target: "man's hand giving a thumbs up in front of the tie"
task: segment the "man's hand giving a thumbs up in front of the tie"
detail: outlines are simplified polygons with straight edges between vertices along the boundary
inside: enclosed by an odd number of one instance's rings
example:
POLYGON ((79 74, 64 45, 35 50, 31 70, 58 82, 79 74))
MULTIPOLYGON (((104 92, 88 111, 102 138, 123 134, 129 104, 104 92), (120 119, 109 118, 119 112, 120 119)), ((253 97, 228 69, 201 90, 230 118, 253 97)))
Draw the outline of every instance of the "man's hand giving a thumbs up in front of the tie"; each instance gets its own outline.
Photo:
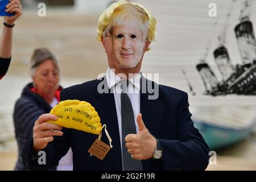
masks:
POLYGON ((134 159, 145 160, 152 158, 156 149, 156 139, 147 130, 142 120, 142 114, 137 116, 139 132, 137 134, 129 134, 125 137, 126 148, 134 159))

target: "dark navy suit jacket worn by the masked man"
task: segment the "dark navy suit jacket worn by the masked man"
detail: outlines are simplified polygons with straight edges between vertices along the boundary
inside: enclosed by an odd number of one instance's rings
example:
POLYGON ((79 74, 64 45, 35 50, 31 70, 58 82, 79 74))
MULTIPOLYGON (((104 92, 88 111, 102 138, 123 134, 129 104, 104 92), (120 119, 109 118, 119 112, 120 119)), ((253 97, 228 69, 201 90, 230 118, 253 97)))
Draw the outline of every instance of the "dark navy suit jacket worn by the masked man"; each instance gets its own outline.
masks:
MULTIPOLYGON (((145 79, 142 77, 142 79, 145 79)), ((103 78, 106 83, 106 79, 103 78)), ((88 149, 98 135, 74 129, 63 129, 64 135, 48 143, 46 165, 39 165, 32 152, 32 139, 23 150, 23 162, 30 169, 57 166, 69 147, 73 151, 74 170, 122 170, 121 144, 113 93, 98 93, 101 80, 92 80, 61 91, 61 100, 86 101, 95 107, 102 125, 108 126, 113 148, 104 160, 90 156, 88 149)), ((148 81, 147 84, 155 84, 148 81)), ((204 170, 208 166, 209 148, 193 126, 188 110, 187 93, 164 85, 159 86, 159 97, 148 100, 149 93, 141 93, 141 113, 144 125, 160 140, 163 159, 142 160, 144 170, 204 170)), ((106 86, 106 84, 105 84, 106 86)), ((103 86, 104 87, 104 86, 103 86)), ((107 88, 110 92, 110 90, 107 88)), ((141 89, 142 90, 142 89, 141 89)), ((102 141, 109 143, 105 134, 102 141)))

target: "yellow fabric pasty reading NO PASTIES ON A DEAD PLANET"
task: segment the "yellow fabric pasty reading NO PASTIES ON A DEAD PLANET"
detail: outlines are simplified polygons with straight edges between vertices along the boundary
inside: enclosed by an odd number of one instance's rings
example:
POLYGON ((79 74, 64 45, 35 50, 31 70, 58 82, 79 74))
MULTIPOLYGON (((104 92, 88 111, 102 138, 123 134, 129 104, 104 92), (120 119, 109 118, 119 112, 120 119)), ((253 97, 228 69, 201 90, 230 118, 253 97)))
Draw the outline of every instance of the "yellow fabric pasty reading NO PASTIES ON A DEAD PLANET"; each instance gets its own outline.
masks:
POLYGON ((55 125, 99 134, 102 130, 101 119, 90 103, 79 100, 61 101, 50 112, 58 117, 57 121, 47 121, 55 125))

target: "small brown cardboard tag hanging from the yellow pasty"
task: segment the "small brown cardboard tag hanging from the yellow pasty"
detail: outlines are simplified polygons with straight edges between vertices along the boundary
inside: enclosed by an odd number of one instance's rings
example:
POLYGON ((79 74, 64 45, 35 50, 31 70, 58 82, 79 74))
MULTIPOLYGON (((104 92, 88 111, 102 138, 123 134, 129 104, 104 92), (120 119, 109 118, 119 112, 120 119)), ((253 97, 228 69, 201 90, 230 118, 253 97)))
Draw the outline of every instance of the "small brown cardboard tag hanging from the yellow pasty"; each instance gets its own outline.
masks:
POLYGON ((92 144, 92 147, 89 148, 88 152, 96 156, 96 158, 103 160, 108 154, 109 150, 110 146, 97 138, 92 144))

